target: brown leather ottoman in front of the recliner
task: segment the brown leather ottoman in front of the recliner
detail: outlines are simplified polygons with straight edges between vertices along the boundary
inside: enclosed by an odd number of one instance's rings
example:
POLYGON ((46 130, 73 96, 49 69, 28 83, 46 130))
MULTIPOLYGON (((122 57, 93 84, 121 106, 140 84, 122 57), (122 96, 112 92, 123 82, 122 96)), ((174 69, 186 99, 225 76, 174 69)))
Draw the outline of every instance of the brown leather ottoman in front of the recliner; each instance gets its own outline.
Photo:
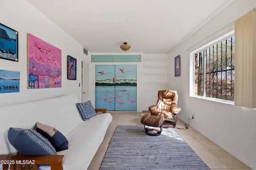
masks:
POLYGON ((164 117, 163 116, 156 116, 156 115, 150 115, 150 114, 145 114, 140 122, 144 124, 144 129, 146 131, 146 134, 150 136, 158 136, 162 133, 162 124, 164 123, 164 117), (150 127, 160 127, 159 129, 155 128, 148 128, 146 126, 150 127))

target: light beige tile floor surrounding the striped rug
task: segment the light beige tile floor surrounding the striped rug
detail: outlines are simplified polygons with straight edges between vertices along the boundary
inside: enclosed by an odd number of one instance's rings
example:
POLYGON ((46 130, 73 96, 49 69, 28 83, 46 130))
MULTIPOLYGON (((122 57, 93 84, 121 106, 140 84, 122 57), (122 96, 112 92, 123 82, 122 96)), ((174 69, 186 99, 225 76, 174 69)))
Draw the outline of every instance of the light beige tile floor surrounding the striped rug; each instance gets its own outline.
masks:
MULTIPOLYGON (((88 170, 99 170, 110 139, 117 125, 142 125, 140 119, 148 112, 110 112, 113 119, 108 126, 106 135, 96 152, 88 170)), ((184 122, 177 120, 176 127, 184 128, 184 122)), ((218 147, 192 127, 188 129, 174 128, 188 145, 200 156, 211 170, 251 170, 248 166, 237 160, 234 156, 218 147)))

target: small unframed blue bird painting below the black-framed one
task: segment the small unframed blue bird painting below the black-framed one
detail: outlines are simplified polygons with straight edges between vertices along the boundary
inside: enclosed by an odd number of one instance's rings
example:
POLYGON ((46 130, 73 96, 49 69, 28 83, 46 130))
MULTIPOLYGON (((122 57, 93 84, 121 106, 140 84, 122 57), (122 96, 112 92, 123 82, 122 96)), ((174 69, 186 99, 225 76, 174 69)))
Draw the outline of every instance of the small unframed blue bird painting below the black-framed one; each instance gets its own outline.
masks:
POLYGON ((20 72, 0 70, 0 93, 20 92, 20 72))

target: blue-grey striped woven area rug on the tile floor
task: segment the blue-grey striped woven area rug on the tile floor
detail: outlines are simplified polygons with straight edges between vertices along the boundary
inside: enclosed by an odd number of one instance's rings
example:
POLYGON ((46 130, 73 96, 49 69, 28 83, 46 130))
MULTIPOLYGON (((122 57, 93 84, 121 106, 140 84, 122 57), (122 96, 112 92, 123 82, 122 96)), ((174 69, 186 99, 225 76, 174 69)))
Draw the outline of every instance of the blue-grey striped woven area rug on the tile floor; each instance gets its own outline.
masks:
POLYGON ((210 169, 173 128, 149 136, 144 125, 118 125, 100 170, 210 169))

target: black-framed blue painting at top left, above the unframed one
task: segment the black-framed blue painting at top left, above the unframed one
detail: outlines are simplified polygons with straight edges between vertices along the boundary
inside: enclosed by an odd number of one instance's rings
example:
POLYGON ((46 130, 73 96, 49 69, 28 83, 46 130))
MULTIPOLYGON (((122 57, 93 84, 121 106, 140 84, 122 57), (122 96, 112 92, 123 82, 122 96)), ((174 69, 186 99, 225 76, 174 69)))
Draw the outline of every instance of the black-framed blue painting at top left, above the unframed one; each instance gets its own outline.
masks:
POLYGON ((18 61, 18 31, 0 23, 0 58, 18 61))

